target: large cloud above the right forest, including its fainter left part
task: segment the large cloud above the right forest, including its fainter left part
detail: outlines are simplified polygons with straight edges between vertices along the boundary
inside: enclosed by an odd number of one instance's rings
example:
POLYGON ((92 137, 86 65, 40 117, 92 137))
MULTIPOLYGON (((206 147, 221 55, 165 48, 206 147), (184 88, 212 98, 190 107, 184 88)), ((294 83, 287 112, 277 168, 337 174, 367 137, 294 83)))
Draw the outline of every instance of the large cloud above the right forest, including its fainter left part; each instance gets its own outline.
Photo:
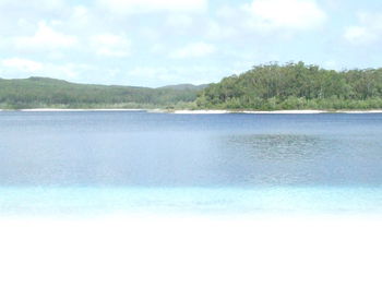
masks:
POLYGON ((297 33, 318 29, 327 20, 315 0, 252 0, 241 5, 220 5, 215 14, 205 24, 206 37, 246 45, 270 36, 273 41, 288 39, 297 33))

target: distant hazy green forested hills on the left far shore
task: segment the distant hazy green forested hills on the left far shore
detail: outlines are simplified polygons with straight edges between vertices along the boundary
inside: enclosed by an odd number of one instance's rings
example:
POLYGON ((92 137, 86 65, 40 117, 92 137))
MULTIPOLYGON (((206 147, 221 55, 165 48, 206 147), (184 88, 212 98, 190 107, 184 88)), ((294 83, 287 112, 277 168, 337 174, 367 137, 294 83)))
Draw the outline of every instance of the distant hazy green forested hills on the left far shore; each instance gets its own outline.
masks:
POLYGON ((205 86, 159 88, 74 84, 48 77, 0 79, 0 109, 193 108, 205 86))

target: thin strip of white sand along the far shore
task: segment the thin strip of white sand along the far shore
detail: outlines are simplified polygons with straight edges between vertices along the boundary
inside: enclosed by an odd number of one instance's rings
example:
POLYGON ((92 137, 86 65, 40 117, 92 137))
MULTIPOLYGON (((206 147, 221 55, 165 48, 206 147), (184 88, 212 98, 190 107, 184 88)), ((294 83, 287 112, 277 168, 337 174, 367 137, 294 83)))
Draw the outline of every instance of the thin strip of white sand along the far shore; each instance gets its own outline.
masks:
POLYGON ((56 112, 56 111, 143 111, 153 113, 176 113, 176 115, 224 115, 224 113, 248 113, 248 115, 312 115, 312 113, 382 113, 382 109, 368 109, 368 110, 314 110, 314 109, 301 109, 301 110, 218 110, 218 109, 200 109, 200 110, 167 110, 167 109, 116 109, 116 108, 95 108, 95 109, 62 109, 62 108, 35 108, 35 109, 0 109, 1 111, 22 111, 22 112, 56 112))

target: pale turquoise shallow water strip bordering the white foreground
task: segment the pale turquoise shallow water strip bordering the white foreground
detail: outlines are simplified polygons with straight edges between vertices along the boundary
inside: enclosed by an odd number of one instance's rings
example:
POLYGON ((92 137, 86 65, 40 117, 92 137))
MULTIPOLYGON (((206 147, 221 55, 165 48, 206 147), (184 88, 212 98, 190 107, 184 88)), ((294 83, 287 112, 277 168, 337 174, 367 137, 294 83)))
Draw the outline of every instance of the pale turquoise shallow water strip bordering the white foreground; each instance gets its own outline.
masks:
POLYGON ((380 213, 378 188, 7 188, 2 215, 380 213))

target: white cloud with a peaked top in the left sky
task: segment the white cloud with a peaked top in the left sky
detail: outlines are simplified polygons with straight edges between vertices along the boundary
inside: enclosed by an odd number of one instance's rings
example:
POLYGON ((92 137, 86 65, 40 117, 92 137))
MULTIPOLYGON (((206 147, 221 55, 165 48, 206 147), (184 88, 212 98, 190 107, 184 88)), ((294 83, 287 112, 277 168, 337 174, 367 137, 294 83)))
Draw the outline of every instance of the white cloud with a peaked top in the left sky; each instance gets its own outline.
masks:
POLYGON ((14 38, 14 44, 17 49, 33 49, 39 51, 72 48, 76 43, 77 39, 75 36, 57 32, 44 21, 38 23, 37 31, 33 36, 14 38))

